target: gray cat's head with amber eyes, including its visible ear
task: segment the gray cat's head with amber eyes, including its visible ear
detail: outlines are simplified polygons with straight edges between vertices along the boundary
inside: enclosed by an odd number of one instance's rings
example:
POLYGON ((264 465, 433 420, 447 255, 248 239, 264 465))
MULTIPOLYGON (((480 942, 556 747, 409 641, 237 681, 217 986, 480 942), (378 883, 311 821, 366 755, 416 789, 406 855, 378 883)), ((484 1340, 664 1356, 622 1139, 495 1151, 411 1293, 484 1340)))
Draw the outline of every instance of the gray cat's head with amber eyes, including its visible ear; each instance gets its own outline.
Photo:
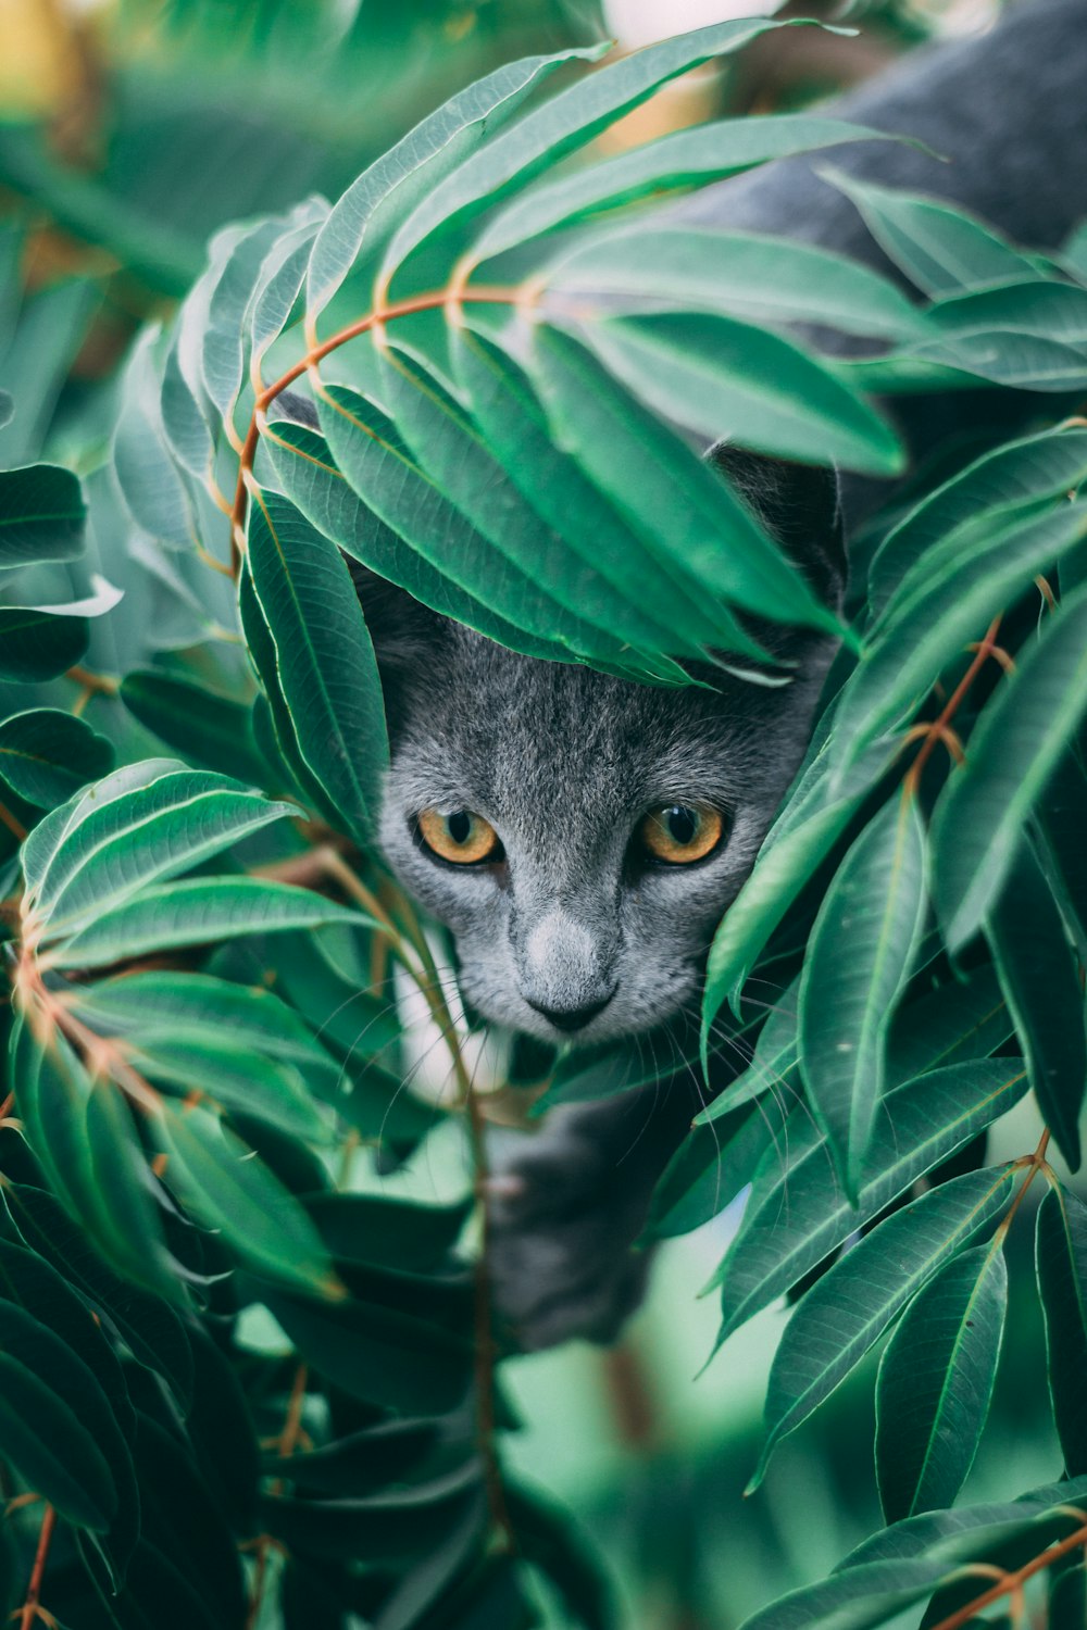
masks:
MULTIPOLYGON (((717 461, 828 603, 833 476, 717 461)), ((385 856, 455 939, 486 1019, 548 1042, 650 1030, 698 1004, 714 929, 803 755, 833 641, 766 624, 795 678, 707 667, 665 689, 539 662, 357 570, 389 716, 385 856)))

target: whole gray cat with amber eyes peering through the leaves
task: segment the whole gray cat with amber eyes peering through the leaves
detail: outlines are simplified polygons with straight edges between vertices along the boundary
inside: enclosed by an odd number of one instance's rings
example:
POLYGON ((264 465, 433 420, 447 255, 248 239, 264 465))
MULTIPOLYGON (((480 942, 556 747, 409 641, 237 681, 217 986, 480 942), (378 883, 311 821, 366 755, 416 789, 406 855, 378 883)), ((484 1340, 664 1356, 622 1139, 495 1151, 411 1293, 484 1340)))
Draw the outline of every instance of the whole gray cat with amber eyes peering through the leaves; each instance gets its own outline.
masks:
MULTIPOLYGON (((1035 0, 991 34, 911 55, 834 112, 922 139, 838 168, 953 199, 1030 246, 1087 215, 1087 0, 1035 0)), ((686 220, 807 238, 882 266, 803 160, 711 187, 686 220)), ((958 398, 957 406, 962 403, 958 398)), ((962 411, 962 409, 960 409, 962 411)), ((932 406, 904 425, 916 445, 932 406)), ((862 489, 719 455, 828 603, 862 489), (847 525, 846 525, 847 533, 847 525)), ((468 1002, 544 1042, 596 1043, 698 1009, 714 927, 803 755, 830 641, 779 631, 799 678, 657 689, 515 655, 362 580, 386 686, 389 866, 456 941, 468 1002)), ((559 1112, 492 1180, 492 1276, 526 1348, 611 1340, 640 1296, 631 1250, 696 1107, 691 1074, 559 1112)))

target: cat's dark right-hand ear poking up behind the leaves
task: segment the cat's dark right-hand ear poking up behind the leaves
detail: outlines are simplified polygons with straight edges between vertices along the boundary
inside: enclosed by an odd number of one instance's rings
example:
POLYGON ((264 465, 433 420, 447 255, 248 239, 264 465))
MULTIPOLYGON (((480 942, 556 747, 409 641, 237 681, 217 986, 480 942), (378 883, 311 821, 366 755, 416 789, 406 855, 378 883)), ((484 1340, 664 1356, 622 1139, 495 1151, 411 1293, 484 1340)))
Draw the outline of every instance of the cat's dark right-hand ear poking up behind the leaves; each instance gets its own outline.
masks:
POLYGON ((800 567, 825 605, 839 610, 847 564, 834 471, 768 458, 728 442, 719 442, 707 456, 800 567))

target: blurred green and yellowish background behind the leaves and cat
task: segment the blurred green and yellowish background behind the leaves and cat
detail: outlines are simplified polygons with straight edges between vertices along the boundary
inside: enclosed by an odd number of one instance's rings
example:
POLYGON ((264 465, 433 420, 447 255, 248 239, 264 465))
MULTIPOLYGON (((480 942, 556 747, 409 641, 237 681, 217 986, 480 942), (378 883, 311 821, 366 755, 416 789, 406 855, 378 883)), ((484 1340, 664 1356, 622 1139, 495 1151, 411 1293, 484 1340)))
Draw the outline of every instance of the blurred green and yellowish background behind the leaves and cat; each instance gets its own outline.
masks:
MULTIPOLYGON (((337 196, 440 101, 495 64, 605 36, 621 46, 727 16, 750 0, 0 0, 0 386, 20 403, 0 465, 42 453, 93 476, 135 329, 168 318, 238 217, 337 196)), ((680 82, 610 142, 722 112, 833 93, 932 36, 988 26, 994 0, 812 0, 766 10, 856 24, 859 37, 769 36, 722 72, 680 82)), ((1033 1148, 1020 1108, 999 1152, 1033 1148)), ((433 1195, 460 1180, 440 1139, 385 1182, 433 1195)), ((996 1152, 996 1151, 994 1151, 996 1152)), ((608 1555, 631 1630, 728 1630, 826 1573, 878 1526, 872 1372, 851 1377, 779 1452, 756 1459, 772 1309, 699 1374, 715 1333, 698 1299, 735 1214, 658 1252, 654 1289, 613 1353, 572 1346, 507 1366, 523 1430, 508 1457, 580 1516, 608 1555)), ((965 1498, 1059 1475, 1030 1227, 1012 1237, 1012 1317, 994 1418, 965 1498)), ((556 1625, 562 1623, 557 1609, 556 1625)))

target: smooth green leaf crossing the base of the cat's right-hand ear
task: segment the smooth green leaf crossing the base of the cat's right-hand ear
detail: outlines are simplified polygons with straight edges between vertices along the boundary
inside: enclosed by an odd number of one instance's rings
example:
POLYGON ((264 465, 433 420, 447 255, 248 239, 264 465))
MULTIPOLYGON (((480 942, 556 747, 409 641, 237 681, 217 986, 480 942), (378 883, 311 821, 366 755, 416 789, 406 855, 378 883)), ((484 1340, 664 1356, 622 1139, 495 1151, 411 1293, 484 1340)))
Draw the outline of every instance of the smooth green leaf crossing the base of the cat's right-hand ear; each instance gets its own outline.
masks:
POLYGON ((745 611, 841 632, 722 476, 616 385, 590 350, 536 324, 528 360, 557 445, 647 548, 745 611))

